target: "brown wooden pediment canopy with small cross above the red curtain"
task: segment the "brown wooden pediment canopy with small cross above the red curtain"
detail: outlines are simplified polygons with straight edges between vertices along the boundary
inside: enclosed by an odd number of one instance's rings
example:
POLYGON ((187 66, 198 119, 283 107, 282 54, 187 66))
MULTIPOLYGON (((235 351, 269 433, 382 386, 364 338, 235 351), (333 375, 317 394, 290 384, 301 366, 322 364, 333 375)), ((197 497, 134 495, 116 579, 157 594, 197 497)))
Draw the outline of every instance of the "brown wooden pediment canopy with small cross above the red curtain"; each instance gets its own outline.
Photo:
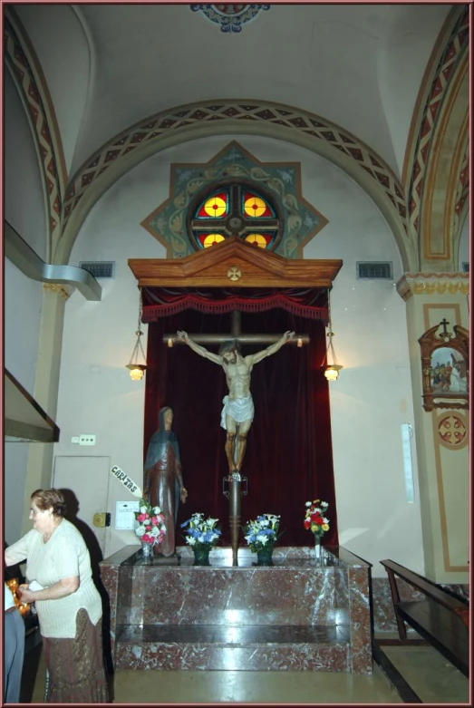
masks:
POLYGON ((130 258, 140 287, 330 288, 342 260, 294 259, 227 238, 184 258, 130 258))

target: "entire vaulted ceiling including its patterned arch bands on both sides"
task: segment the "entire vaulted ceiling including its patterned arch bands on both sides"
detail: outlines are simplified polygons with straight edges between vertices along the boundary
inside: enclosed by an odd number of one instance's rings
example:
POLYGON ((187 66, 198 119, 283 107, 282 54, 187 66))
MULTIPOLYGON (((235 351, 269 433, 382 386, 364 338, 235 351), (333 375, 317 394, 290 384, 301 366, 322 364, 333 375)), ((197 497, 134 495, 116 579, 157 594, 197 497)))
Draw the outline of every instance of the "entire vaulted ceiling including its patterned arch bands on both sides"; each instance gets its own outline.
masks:
POLYGON ((252 134, 313 150, 355 179, 405 268, 458 267, 468 5, 274 3, 240 32, 223 32, 202 8, 256 5, 5 7, 7 66, 41 161, 54 263, 68 262, 94 203, 141 160, 199 137, 252 134))

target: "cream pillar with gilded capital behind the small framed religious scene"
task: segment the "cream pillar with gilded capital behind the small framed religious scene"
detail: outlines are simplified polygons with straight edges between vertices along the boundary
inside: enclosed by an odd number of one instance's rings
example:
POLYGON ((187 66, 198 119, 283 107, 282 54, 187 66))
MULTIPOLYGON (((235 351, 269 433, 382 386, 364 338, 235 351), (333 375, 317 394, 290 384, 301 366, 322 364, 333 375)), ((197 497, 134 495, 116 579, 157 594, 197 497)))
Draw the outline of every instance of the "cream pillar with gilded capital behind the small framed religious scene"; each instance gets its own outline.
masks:
POLYGON ((407 306, 425 574, 437 583, 468 583, 469 411, 424 410, 418 340, 443 318, 450 332, 453 325, 469 328, 469 274, 407 273, 397 291, 407 306))

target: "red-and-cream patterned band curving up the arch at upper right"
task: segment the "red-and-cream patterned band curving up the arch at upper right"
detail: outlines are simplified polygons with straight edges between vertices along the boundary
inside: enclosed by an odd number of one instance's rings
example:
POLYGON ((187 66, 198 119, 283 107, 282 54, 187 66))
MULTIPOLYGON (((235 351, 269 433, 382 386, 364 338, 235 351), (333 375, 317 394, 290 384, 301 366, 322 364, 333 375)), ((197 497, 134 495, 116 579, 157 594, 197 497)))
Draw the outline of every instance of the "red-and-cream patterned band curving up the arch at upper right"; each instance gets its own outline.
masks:
POLYGON ((446 99, 451 82, 456 76, 459 64, 468 50, 469 5, 466 4, 459 9, 459 17, 452 28, 448 42, 444 45, 421 113, 411 180, 407 189, 410 228, 416 235, 420 233, 421 195, 430 160, 430 150, 440 118, 440 108, 446 99))

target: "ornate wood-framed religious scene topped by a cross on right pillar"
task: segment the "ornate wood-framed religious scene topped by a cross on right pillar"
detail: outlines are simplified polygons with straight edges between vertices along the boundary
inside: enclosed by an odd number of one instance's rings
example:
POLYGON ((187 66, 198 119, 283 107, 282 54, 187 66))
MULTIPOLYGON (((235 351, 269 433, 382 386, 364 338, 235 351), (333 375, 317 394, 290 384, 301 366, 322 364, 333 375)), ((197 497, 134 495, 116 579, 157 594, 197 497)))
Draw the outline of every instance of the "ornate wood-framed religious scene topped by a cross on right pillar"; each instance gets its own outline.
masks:
POLYGON ((423 408, 469 408, 469 332, 450 323, 430 327, 421 345, 423 408))

